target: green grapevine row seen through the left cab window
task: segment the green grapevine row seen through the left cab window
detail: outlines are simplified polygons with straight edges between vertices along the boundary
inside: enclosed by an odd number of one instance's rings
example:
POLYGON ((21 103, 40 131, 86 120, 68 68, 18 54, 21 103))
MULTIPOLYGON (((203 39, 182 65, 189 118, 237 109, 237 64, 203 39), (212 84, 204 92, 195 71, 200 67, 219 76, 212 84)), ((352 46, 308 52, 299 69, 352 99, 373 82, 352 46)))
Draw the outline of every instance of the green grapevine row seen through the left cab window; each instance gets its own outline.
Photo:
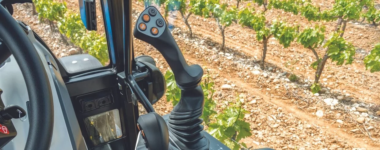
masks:
POLYGON ((40 19, 47 19, 53 30, 54 21, 57 21, 61 38, 65 43, 65 35, 71 43, 80 47, 88 54, 97 58, 102 65, 109 60, 108 46, 106 38, 95 31, 87 31, 84 27, 81 16, 78 13, 68 12, 66 3, 52 0, 36 0, 36 11, 40 19))

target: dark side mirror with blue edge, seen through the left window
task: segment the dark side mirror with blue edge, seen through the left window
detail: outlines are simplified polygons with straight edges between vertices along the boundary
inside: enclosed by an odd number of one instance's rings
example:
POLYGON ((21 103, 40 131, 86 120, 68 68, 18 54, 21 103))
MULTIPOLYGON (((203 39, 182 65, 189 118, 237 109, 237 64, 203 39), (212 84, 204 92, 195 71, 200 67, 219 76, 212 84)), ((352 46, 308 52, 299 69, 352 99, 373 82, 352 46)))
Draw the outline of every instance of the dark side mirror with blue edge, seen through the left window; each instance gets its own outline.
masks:
POLYGON ((87 30, 97 30, 95 0, 79 0, 81 19, 87 30))

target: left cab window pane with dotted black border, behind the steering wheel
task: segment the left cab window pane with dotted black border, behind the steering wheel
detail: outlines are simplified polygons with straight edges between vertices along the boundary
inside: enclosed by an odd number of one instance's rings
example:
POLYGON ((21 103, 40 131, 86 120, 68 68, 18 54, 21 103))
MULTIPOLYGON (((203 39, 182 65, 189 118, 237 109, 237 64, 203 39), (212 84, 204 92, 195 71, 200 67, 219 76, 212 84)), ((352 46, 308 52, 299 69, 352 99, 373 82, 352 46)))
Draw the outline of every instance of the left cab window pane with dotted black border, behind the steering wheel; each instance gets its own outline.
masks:
POLYGON ((110 63, 100 1, 96 2, 97 31, 88 31, 78 1, 33 0, 15 4, 13 16, 46 43, 68 74, 103 68, 110 63))

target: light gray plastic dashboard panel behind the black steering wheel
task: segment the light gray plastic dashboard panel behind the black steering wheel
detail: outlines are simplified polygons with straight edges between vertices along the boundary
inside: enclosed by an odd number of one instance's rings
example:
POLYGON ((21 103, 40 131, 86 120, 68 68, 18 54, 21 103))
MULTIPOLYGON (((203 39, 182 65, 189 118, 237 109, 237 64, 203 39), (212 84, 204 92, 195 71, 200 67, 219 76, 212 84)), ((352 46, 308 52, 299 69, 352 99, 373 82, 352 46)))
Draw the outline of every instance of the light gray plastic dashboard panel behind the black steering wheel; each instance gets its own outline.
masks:
MULTIPOLYGON (((29 39, 37 49, 38 54, 40 54, 41 60, 46 62, 44 63, 44 67, 53 93, 54 126, 50 149, 86 150, 87 147, 84 143, 78 121, 76 120, 67 88, 65 87, 62 77, 60 77, 59 71, 52 68, 51 65, 48 65, 47 61, 51 61, 55 66, 57 66, 57 63, 47 49, 35 40, 32 30, 29 27, 28 29, 29 39)), ((0 68, 0 87, 3 89, 2 99, 5 105, 16 104, 27 110, 26 102, 29 101, 29 99, 25 81, 13 55, 10 57, 10 62, 5 63, 5 65, 0 68)), ((24 122, 21 122, 19 119, 12 120, 17 130, 17 136, 3 147, 4 150, 24 149, 29 129, 28 119, 24 122)))

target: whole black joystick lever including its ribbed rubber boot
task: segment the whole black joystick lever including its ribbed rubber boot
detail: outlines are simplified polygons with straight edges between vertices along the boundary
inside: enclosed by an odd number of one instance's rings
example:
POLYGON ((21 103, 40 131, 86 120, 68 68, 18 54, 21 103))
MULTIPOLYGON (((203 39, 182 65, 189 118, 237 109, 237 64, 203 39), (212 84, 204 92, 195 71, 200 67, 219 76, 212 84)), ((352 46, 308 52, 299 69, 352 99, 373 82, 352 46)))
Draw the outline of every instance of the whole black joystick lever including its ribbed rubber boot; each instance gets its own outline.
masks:
POLYGON ((154 46, 173 71, 181 99, 170 112, 167 122, 169 144, 179 150, 208 150, 209 139, 203 132, 204 94, 200 86, 203 69, 188 65, 166 22, 154 6, 146 8, 133 29, 135 38, 154 46))

